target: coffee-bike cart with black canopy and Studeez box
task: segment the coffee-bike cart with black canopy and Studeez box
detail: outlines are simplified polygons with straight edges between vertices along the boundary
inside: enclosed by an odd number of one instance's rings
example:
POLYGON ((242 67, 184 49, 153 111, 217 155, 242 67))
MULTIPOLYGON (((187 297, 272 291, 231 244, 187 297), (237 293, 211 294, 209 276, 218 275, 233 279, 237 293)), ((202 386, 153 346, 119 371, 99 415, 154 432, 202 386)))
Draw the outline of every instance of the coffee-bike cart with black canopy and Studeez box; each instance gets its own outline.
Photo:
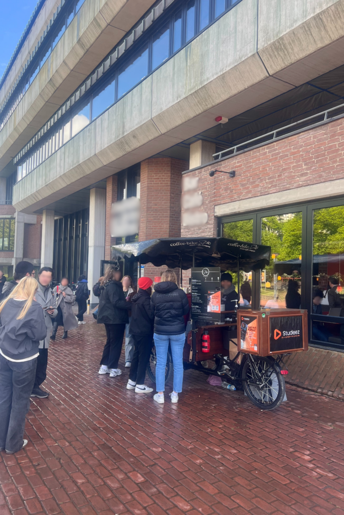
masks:
MULTIPOLYGON (((221 376, 243 388, 260 409, 273 409, 285 398, 283 356, 308 349, 307 311, 221 306, 220 278, 227 270, 240 274, 264 269, 271 248, 229 238, 159 238, 112 247, 112 259, 152 263, 159 267, 191 269, 191 310, 186 328, 184 369, 197 369, 221 376), (235 351, 233 351, 235 349, 235 351), (232 356, 230 357, 230 355, 232 356), (234 355, 233 355, 234 354, 234 355)), ((153 347, 148 375, 155 382, 156 354, 153 347)), ((168 353, 166 379, 172 371, 168 353)))

